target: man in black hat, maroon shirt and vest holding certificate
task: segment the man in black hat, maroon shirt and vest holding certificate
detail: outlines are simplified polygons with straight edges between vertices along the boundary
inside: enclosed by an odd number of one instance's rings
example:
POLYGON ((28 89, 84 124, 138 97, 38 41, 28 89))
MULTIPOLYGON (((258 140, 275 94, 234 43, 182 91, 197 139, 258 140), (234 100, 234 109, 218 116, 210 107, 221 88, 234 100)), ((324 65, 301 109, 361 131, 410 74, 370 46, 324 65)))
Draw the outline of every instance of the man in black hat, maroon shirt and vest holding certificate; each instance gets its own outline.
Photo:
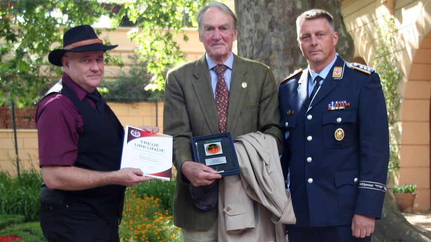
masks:
MULTIPOLYGON (((123 127, 96 90, 104 75, 103 45, 92 27, 67 30, 48 60, 62 80, 36 110, 41 190, 40 222, 48 241, 120 241, 125 186, 151 178, 120 168, 123 127)), ((144 126, 148 132, 158 128, 144 126)))

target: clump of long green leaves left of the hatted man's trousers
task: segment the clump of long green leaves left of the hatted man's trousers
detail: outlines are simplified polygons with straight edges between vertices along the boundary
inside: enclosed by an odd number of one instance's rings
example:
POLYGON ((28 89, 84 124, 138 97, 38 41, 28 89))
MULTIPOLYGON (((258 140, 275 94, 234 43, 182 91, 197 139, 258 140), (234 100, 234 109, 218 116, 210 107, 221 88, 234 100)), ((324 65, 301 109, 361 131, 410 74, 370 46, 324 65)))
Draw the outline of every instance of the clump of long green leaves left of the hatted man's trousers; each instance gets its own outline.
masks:
POLYGON ((1 171, 0 214, 20 214, 26 221, 38 221, 41 184, 42 175, 35 169, 22 171, 19 178, 1 171))

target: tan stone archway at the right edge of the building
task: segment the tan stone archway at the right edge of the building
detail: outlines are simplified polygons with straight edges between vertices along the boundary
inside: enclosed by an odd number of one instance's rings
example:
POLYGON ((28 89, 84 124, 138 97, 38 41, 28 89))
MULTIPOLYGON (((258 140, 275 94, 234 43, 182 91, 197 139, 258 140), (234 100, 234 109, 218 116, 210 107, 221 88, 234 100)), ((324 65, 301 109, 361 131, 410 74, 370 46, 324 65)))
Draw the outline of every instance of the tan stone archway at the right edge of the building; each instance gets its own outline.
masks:
POLYGON ((401 104, 400 184, 416 183, 416 208, 431 200, 431 31, 420 41, 401 104))

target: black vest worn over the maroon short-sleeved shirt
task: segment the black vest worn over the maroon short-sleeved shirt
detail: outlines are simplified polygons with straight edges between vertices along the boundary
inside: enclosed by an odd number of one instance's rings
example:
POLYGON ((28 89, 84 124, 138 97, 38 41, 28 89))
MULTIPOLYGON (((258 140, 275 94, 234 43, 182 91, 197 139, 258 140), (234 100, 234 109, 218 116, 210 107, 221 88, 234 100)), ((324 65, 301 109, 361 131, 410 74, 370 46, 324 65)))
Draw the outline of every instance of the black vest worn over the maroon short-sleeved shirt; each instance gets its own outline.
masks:
MULTIPOLYGON (((83 120, 75 166, 96 171, 120 169, 124 130, 112 110, 105 105, 106 114, 100 114, 85 99, 80 101, 75 92, 62 85, 61 81, 46 95, 51 92, 60 92, 67 96, 77 107, 83 120)), ((106 185, 79 191, 46 188, 43 190, 48 198, 61 194, 66 203, 71 201, 87 203, 109 223, 116 222, 123 211, 125 187, 121 185, 106 185)))

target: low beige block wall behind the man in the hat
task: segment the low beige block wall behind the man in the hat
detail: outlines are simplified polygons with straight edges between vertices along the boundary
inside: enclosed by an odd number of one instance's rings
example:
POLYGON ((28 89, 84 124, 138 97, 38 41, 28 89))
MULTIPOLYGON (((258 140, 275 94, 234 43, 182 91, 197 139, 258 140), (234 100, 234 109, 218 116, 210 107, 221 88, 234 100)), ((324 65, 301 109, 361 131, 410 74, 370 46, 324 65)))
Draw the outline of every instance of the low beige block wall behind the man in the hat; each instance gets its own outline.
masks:
MULTIPOLYGON (((163 103, 108 103, 108 105, 117 115, 123 126, 155 126, 157 122, 160 132, 163 133, 163 103)), ((1 119, 4 119, 3 114, 1 114, 1 119)), ((21 160, 20 167, 22 169, 30 169, 31 167, 39 169, 37 130, 34 128, 17 129, 16 140, 18 156, 21 160)), ((0 128, 0 170, 15 175, 15 164, 14 131, 13 129, 0 128)))

